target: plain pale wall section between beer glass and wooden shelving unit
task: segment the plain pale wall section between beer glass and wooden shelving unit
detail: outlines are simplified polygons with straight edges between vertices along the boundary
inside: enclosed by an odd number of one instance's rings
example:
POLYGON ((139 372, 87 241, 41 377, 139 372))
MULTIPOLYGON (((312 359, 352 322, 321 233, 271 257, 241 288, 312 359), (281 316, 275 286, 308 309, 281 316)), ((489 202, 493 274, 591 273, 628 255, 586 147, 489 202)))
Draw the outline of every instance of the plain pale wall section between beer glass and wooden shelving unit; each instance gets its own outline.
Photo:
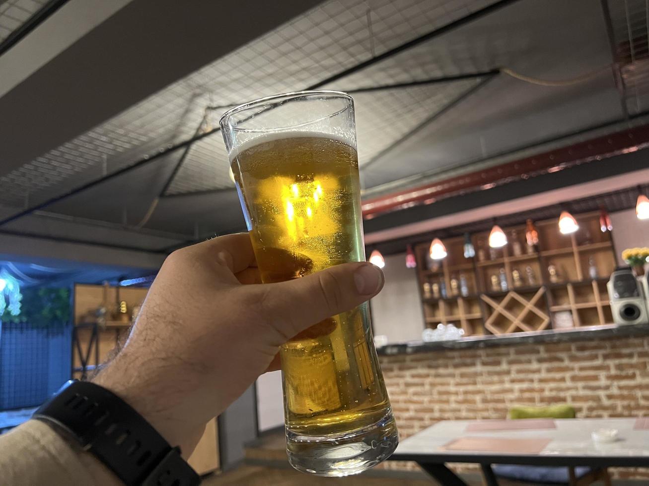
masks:
POLYGON ((406 268, 406 254, 386 257, 386 285, 371 301, 374 336, 384 334, 388 343, 421 340, 424 330, 417 271, 406 268))

